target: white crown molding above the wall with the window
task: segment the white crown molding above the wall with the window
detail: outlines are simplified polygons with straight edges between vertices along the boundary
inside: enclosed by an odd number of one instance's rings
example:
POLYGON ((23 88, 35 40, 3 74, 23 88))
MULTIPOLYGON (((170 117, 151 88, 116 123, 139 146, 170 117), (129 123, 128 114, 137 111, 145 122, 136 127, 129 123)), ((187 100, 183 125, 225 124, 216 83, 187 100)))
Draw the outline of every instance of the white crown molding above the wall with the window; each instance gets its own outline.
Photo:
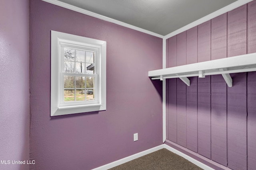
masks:
POLYGON ((142 29, 142 28, 130 25, 128 23, 124 23, 124 22, 121 22, 121 21, 118 21, 118 20, 114 20, 112 18, 108 18, 106 16, 102 16, 100 14, 96 14, 94 12, 90 12, 88 10, 84 10, 82 8, 78 8, 76 6, 73 6, 73 5, 70 5, 70 4, 66 4, 66 3, 60 2, 58 0, 42 0, 42 1, 48 2, 50 4, 54 4, 54 5, 57 5, 57 6, 69 9, 69 10, 73 10, 73 11, 76 11, 76 12, 79 12, 79 13, 82 13, 82 14, 85 14, 85 15, 88 15, 88 16, 92 16, 92 17, 95 17, 95 18, 98 18, 98 19, 101 19, 101 20, 104 20, 104 21, 112 22, 112 23, 115 23, 117 25, 121 25, 121 26, 130 28, 130 29, 134 29, 134 30, 140 31, 142 33, 153 35, 155 37, 159 37, 159 38, 163 38, 164 37, 164 35, 160 35, 160 34, 152 32, 152 31, 148 31, 146 29, 142 29))

